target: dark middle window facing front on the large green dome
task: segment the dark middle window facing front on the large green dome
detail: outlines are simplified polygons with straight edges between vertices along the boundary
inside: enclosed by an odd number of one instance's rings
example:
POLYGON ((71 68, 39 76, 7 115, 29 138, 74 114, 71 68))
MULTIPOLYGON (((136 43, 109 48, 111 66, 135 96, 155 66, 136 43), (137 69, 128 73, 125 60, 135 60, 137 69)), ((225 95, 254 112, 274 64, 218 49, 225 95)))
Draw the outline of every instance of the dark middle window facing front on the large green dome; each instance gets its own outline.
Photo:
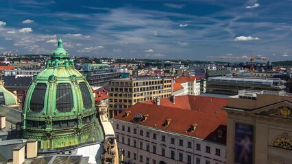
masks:
POLYGON ((69 83, 59 83, 57 85, 56 109, 60 112, 69 112, 73 109, 73 94, 69 83))

